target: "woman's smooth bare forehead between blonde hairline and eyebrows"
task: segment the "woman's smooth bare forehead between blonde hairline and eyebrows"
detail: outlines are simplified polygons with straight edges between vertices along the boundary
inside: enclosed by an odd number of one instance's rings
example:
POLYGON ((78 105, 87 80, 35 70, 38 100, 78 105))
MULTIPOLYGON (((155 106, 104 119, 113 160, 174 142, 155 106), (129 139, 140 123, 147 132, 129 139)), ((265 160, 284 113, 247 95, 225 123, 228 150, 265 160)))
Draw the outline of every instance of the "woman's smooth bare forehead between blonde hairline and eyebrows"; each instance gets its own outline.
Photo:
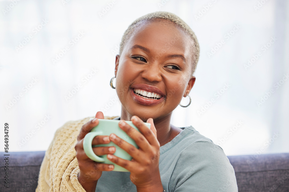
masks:
POLYGON ((141 45, 154 54, 183 54, 190 58, 191 39, 175 23, 164 20, 142 22, 133 32, 125 45, 127 51, 134 45, 141 45))

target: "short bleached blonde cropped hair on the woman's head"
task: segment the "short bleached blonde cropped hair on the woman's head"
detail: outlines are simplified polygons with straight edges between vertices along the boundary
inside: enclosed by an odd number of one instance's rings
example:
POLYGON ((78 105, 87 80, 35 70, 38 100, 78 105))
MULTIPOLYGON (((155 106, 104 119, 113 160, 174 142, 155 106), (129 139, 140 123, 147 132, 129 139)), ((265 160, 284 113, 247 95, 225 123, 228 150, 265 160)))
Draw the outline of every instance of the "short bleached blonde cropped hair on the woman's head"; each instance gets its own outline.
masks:
POLYGON ((168 21, 171 21, 175 24, 177 24, 186 34, 188 34, 190 36, 190 38, 192 39, 192 72, 191 75, 194 73, 194 71, 196 70, 197 67, 197 63, 199 60, 199 56, 200 56, 200 46, 197 40, 196 35, 194 34, 194 32, 192 31, 192 29, 178 16, 176 16, 173 13, 170 12, 164 12, 164 11, 158 11, 158 12, 153 12, 153 13, 149 13, 147 15, 144 15, 138 19, 136 19, 134 22, 132 22, 129 27, 127 28, 127 30, 125 31, 125 33, 123 34, 123 37, 121 39, 121 43, 119 46, 119 55, 121 55, 122 51, 123 51, 123 47, 125 45, 125 43, 127 42, 127 40, 134 35, 134 31, 135 29, 140 26, 141 24, 143 24, 144 22, 147 21, 151 21, 154 19, 165 19, 168 21))

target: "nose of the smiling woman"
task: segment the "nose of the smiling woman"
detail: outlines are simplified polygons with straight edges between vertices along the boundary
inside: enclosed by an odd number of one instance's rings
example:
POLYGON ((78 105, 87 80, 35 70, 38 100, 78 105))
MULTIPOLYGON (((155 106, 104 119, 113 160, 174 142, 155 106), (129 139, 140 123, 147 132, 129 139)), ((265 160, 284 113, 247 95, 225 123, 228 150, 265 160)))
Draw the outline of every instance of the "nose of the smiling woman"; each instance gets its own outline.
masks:
POLYGON ((161 72, 157 64, 146 65, 144 71, 141 74, 141 77, 150 82, 162 81, 161 72))

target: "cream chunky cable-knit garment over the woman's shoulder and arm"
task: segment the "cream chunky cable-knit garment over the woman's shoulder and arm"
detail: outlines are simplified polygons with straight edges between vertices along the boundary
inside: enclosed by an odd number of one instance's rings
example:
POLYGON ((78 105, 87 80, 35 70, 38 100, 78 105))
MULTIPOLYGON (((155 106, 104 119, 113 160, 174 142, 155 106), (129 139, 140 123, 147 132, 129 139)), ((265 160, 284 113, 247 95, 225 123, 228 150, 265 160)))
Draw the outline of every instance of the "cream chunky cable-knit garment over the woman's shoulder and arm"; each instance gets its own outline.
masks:
MULTIPOLYGON (((104 119, 115 117, 105 116, 104 119)), ((77 178, 79 167, 74 147, 81 127, 90 118, 94 117, 69 121, 56 130, 40 167, 36 192, 85 191, 77 178)))

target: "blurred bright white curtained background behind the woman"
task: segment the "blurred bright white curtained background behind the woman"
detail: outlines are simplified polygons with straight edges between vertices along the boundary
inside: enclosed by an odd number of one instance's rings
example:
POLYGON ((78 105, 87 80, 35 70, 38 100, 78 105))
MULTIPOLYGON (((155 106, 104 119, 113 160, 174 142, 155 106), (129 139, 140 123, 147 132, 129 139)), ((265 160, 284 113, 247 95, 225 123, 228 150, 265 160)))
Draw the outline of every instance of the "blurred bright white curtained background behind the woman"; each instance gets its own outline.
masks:
POLYGON ((192 103, 171 123, 192 125, 226 155, 289 152, 288 1, 2 0, 0 8, 0 143, 8 122, 10 151, 44 151, 65 122, 105 107, 105 116, 120 115, 109 81, 121 37, 137 18, 168 11, 201 49, 192 103))

